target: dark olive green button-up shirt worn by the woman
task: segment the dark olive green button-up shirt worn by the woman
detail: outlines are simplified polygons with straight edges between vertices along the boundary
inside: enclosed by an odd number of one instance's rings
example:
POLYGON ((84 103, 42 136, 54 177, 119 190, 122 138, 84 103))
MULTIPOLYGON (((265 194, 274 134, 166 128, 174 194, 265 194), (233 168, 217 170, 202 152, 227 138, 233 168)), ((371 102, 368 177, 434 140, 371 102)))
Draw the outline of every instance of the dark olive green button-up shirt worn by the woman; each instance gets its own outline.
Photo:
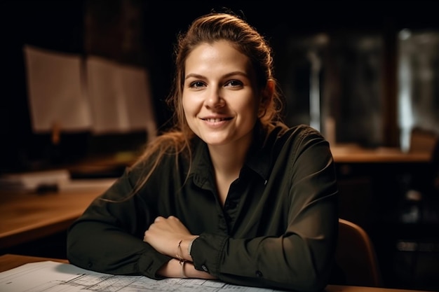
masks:
POLYGON ((267 137, 255 133, 224 207, 201 139, 192 141, 189 176, 184 155, 178 155, 178 166, 175 155, 166 155, 142 189, 127 197, 150 162, 126 169, 101 196, 120 202, 97 198, 69 228, 70 263, 97 272, 162 279, 156 272, 170 257, 142 239, 156 216, 173 215, 199 235, 191 247, 197 270, 230 284, 323 289, 338 227, 329 144, 306 125, 276 127, 267 137))

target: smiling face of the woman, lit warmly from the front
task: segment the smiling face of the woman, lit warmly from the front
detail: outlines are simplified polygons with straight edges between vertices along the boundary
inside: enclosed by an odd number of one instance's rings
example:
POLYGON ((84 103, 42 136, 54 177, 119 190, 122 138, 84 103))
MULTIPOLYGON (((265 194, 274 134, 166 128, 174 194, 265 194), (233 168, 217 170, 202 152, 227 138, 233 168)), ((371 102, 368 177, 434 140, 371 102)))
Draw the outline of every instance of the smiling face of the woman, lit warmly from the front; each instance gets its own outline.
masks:
POLYGON ((227 41, 203 43, 185 69, 182 104, 191 130, 209 146, 248 146, 261 100, 250 59, 227 41))

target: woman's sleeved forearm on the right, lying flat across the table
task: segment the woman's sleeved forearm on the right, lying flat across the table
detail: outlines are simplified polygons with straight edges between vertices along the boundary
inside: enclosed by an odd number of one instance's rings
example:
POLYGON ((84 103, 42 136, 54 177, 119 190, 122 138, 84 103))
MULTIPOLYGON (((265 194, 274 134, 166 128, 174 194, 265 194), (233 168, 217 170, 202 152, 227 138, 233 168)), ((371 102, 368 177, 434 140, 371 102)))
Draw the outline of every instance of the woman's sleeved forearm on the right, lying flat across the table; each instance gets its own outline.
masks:
POLYGON ((318 224, 304 223, 306 230, 292 227, 278 237, 233 239, 202 233, 191 255, 198 270, 231 284, 312 291, 325 286, 329 277, 334 231, 330 226, 320 231, 306 226, 318 224))

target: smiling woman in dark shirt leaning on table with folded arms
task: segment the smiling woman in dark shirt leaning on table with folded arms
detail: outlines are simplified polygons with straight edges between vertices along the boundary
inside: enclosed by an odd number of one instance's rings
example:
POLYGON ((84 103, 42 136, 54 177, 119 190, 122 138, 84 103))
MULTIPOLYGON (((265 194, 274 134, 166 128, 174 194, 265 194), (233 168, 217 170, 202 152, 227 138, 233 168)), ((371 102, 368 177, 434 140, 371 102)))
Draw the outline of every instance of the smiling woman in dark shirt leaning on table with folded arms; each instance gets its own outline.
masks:
POLYGON ((319 291, 337 242, 329 144, 279 118, 271 48, 236 15, 176 47, 175 127, 69 228, 70 263, 154 279, 319 291))

